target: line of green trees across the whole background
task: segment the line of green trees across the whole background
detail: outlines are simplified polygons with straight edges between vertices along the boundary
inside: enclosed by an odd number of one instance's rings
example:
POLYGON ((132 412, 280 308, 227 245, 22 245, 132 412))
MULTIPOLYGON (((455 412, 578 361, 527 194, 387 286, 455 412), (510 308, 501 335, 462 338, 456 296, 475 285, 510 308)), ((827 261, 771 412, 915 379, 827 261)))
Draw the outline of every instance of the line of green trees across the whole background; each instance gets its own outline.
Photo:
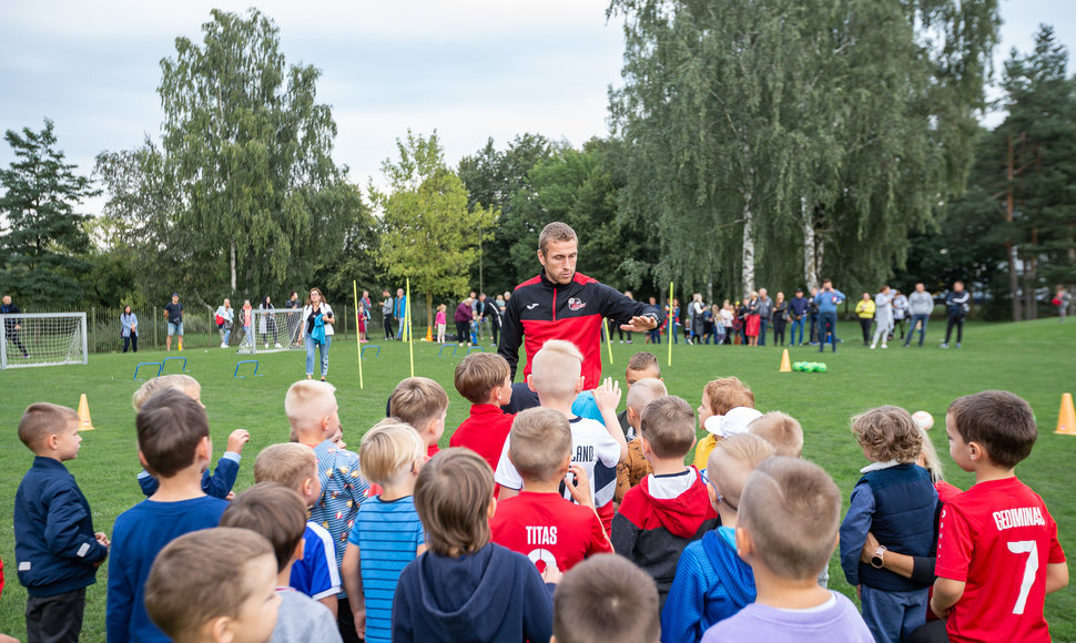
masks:
POLYGON ((51 307, 312 285, 349 300, 352 280, 376 298, 409 279, 430 315, 537 274, 549 221, 579 231, 580 271, 642 297, 960 278, 1021 319, 1076 283, 1076 81, 1048 25, 1011 53, 986 130, 995 0, 609 12, 626 25, 609 135, 490 139, 449 167, 436 132, 408 131, 378 187, 333 161, 318 70, 288 64, 257 10, 214 10, 161 61, 159 140, 85 176, 51 121, 7 132, 0 290, 51 307))

